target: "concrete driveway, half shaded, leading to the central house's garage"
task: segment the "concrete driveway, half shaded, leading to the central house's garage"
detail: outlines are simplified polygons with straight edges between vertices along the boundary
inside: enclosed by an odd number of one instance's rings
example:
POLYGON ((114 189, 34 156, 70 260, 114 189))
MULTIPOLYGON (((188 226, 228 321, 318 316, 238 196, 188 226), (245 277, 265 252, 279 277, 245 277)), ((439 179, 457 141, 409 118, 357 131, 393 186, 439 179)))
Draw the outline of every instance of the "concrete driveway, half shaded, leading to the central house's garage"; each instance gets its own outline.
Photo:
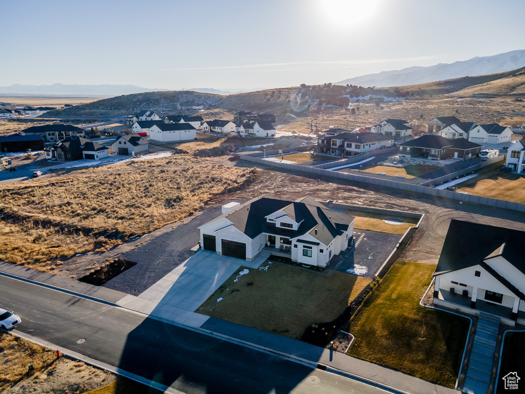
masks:
POLYGON ((258 257, 249 262, 199 250, 140 295, 127 295, 117 304, 169 322, 200 327, 209 316, 194 311, 241 266, 258 268, 265 260, 258 257))

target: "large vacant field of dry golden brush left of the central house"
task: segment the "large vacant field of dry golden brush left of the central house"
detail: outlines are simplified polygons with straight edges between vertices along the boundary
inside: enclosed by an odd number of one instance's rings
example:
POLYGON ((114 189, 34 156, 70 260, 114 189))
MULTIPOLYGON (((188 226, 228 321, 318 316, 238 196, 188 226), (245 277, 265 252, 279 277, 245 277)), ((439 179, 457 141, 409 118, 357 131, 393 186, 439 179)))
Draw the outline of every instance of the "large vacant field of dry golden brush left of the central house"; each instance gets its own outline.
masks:
POLYGON ((0 260, 42 269, 49 260, 104 251, 256 176, 207 160, 177 155, 1 184, 0 260))

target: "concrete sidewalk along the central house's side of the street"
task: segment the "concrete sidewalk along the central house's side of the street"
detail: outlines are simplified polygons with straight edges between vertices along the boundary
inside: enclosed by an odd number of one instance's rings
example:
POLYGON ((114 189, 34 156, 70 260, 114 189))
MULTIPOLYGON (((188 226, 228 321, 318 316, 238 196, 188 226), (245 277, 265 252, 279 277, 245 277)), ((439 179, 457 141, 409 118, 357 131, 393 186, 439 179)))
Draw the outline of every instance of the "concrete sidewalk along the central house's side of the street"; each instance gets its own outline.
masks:
MULTIPOLYGON (((34 271, 24 266, 0 262, 0 274, 25 279, 46 287, 56 288, 59 291, 98 300, 99 302, 116 307, 119 307, 118 304, 121 304, 124 298, 130 299, 130 296, 126 293, 114 291, 106 287, 81 283, 74 279, 64 278, 58 275, 34 271)), ((129 308, 127 305, 124 307, 135 310, 129 308)), ((137 310, 137 312, 140 312, 140 310, 137 310)), ((166 319, 165 317, 161 319, 170 322, 170 319, 166 319)), ((181 325, 175 321, 171 323, 181 325)), ((458 392, 454 389, 437 386, 422 379, 372 364, 371 362, 346 356, 340 352, 323 349, 295 339, 226 322, 225 320, 207 318, 204 324, 200 326, 193 324, 193 327, 188 328, 234 343, 274 352, 283 357, 301 362, 302 364, 311 365, 313 368, 317 366, 318 368, 326 369, 342 376, 369 382, 372 385, 378 383, 380 386, 386 386, 384 389, 391 392, 411 394, 453 394, 458 392)))

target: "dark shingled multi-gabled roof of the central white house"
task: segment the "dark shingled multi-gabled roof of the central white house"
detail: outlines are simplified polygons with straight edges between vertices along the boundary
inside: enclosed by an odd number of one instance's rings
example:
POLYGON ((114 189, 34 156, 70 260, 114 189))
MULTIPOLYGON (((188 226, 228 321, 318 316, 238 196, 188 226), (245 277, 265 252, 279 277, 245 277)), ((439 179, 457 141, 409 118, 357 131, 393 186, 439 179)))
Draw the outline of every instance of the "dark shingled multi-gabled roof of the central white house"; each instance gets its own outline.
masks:
MULTIPOLYGON (((292 216, 290 216, 291 219, 292 216)), ((310 234, 324 245, 329 245, 335 236, 341 235, 344 230, 348 230, 349 225, 355 219, 353 216, 325 208, 311 197, 287 201, 271 196, 262 196, 250 200, 208 223, 223 218, 232 222, 236 229, 251 239, 254 239, 261 233, 276 234, 289 238, 310 234), (292 215, 295 218, 293 220, 300 222, 299 229, 297 231, 281 229, 266 221, 266 216, 278 211, 284 211, 287 215, 292 215)))

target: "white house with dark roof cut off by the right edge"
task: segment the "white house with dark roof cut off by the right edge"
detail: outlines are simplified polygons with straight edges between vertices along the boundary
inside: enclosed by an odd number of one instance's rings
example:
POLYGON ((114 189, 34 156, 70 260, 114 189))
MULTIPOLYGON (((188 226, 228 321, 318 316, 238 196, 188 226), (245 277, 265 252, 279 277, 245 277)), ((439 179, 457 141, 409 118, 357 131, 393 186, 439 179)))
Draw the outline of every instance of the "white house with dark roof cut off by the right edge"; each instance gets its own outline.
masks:
POLYGON ((434 272, 434 304, 525 324, 525 232, 453 219, 434 272))

